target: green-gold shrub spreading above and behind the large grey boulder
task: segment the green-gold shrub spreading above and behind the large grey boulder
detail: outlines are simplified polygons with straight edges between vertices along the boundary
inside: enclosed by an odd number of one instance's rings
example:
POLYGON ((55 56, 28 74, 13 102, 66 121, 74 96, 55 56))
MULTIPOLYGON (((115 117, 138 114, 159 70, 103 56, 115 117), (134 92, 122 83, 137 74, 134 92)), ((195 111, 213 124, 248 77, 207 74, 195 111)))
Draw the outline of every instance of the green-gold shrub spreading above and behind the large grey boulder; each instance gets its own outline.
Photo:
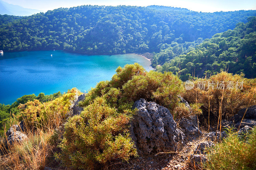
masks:
POLYGON ((97 96, 104 96, 107 103, 118 110, 126 103, 140 98, 156 101, 171 110, 178 105, 178 95, 183 93, 183 82, 174 74, 146 72, 138 63, 118 67, 111 81, 101 81, 92 88, 80 103, 87 106, 97 96))

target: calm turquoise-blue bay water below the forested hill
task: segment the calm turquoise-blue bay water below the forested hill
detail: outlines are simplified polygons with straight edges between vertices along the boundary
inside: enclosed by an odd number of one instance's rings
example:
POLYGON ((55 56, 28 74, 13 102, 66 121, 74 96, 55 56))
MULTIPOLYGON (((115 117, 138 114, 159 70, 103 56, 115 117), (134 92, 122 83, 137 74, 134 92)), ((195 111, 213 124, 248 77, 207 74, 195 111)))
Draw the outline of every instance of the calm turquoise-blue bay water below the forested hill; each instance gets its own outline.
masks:
POLYGON ((0 103, 43 92, 66 92, 76 87, 88 91, 110 80, 118 66, 138 62, 151 70, 150 61, 136 54, 84 55, 63 51, 5 52, 0 56, 0 103), (51 57, 52 54, 52 57, 51 57))

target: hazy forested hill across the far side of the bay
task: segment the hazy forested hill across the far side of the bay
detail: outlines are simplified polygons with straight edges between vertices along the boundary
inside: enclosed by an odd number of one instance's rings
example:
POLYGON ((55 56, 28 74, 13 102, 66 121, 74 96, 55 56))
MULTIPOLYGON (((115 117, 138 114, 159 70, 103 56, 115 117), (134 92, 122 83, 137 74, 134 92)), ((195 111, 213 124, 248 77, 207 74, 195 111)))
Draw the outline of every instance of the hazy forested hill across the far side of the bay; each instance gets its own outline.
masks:
POLYGON ((177 46, 175 54, 182 54, 255 15, 255 10, 204 13, 161 6, 60 8, 20 19, 0 16, 0 49, 116 54, 177 46))

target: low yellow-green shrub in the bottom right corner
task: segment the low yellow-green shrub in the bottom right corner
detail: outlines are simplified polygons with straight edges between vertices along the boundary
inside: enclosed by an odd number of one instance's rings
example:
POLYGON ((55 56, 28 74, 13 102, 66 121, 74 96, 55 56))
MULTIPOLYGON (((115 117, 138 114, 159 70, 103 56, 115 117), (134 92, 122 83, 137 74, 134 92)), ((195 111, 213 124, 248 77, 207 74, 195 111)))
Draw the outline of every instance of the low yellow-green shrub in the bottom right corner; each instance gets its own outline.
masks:
POLYGON ((256 169, 256 128, 247 133, 247 138, 239 138, 237 133, 210 149, 206 169, 241 170, 256 169))

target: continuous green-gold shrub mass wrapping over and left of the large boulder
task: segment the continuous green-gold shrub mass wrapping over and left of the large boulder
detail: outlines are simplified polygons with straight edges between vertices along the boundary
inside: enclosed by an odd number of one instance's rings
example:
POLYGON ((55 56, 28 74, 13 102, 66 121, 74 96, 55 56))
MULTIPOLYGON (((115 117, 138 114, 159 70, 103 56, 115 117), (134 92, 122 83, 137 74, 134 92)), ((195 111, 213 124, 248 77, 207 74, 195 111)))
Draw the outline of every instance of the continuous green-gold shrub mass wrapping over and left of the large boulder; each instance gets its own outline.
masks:
POLYGON ((138 63, 118 67, 111 81, 99 82, 79 103, 84 111, 66 124, 62 152, 56 156, 65 166, 82 169, 136 156, 128 131, 133 103, 145 98, 172 112, 183 90, 183 82, 172 73, 146 72, 138 63))

